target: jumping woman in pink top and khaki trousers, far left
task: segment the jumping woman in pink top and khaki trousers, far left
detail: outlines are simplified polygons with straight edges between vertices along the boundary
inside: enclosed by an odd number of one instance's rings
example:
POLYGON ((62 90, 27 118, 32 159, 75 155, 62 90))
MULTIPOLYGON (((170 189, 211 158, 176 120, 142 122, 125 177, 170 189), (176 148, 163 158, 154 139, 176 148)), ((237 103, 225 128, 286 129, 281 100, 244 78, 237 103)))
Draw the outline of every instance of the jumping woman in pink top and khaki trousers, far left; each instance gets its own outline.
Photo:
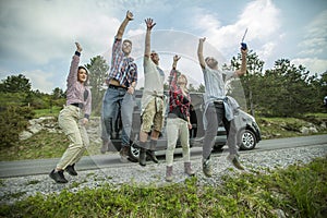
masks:
POLYGON ((66 78, 66 105, 60 111, 58 122, 71 144, 62 155, 57 167, 50 172, 50 178, 57 183, 66 183, 63 175, 65 170, 71 175, 77 175, 75 164, 81 159, 84 150, 89 145, 85 124, 90 114, 92 95, 87 86, 88 71, 80 65, 82 47, 76 44, 76 51, 73 56, 70 73, 66 78))

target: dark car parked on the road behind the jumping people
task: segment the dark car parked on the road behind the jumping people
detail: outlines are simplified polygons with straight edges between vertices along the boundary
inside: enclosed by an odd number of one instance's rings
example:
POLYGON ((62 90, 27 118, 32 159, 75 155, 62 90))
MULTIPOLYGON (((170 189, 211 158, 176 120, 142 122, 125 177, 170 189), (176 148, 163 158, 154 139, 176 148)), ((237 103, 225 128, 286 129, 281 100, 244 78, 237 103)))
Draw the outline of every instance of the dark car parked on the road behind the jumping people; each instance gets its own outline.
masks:
MULTIPOLYGON (((131 150, 130 156, 132 159, 138 158, 138 148, 137 148, 137 140, 141 126, 141 98, 142 98, 142 90, 135 90, 135 105, 133 111, 133 124, 132 124, 132 133, 131 133, 131 150)), ((204 138, 204 128, 203 128, 203 111, 204 111, 204 100, 202 93, 191 93, 192 106, 196 113, 197 120, 197 131, 196 135, 190 138, 190 146, 197 147, 203 146, 203 138, 204 138)), ((192 120, 192 118, 191 118, 192 120)), ((255 119, 250 116, 249 113, 240 110, 239 114, 235 116, 235 122, 238 126, 238 145, 240 149, 253 149, 256 144, 261 141, 261 131, 258 125, 255 122, 255 119)), ((166 124, 166 120, 165 120, 166 124)), ((116 150, 120 150, 121 148, 121 117, 118 114, 116 119, 114 126, 112 126, 112 135, 111 141, 114 146, 116 150)), ((216 142, 214 145, 214 150, 220 150, 227 142, 226 130, 222 123, 219 125, 217 130, 216 142)), ((179 147, 179 142, 177 147, 179 147)), ((164 128, 160 137, 157 144, 157 152, 166 150, 167 148, 167 137, 166 137, 166 128, 164 128)))

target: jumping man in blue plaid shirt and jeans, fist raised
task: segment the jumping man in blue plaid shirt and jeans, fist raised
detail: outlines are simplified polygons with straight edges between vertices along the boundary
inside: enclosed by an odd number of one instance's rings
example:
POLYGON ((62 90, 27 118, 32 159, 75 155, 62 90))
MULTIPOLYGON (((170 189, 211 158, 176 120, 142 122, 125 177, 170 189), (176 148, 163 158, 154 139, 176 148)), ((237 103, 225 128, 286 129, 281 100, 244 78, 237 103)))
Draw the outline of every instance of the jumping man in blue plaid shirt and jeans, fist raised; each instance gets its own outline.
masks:
POLYGON ((124 29, 133 14, 128 11, 126 16, 120 25, 112 46, 111 69, 106 80, 108 89, 102 102, 102 147, 101 153, 108 150, 112 132, 112 122, 121 112, 122 118, 122 145, 120 150, 121 161, 126 162, 130 152, 130 135, 132 131, 132 116, 134 109, 134 90, 137 83, 137 66, 134 59, 130 57, 132 41, 123 40, 124 29), (120 111, 119 111, 120 110, 120 111))

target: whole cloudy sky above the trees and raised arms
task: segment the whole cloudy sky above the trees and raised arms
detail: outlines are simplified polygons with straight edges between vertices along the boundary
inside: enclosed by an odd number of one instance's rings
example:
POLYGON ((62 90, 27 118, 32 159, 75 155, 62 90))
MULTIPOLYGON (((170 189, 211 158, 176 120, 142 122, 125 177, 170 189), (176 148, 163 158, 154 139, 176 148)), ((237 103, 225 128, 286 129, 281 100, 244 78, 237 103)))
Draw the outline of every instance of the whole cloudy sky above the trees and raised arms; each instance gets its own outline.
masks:
POLYGON ((74 41, 83 47, 81 64, 102 56, 110 62, 113 37, 126 11, 134 20, 124 38, 133 41, 142 85, 144 20, 153 17, 153 49, 168 72, 172 56, 182 56, 181 71, 195 86, 203 83, 196 59, 199 37, 205 56, 220 64, 240 52, 245 41, 265 69, 284 58, 311 73, 327 70, 326 0, 0 0, 0 80, 24 74, 33 89, 65 89, 74 41))

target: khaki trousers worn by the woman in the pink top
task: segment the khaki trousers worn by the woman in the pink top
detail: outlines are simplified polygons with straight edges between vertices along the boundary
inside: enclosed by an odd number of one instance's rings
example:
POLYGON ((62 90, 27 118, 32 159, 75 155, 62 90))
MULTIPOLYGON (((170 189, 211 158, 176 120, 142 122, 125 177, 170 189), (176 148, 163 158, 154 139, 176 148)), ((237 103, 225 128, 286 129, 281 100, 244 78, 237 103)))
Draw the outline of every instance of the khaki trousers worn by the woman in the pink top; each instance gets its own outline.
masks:
POLYGON ((66 166, 77 162, 89 145, 86 129, 82 123, 83 117, 83 111, 75 106, 65 106, 59 113, 59 126, 69 137, 71 144, 58 162, 58 169, 65 169, 66 166))

